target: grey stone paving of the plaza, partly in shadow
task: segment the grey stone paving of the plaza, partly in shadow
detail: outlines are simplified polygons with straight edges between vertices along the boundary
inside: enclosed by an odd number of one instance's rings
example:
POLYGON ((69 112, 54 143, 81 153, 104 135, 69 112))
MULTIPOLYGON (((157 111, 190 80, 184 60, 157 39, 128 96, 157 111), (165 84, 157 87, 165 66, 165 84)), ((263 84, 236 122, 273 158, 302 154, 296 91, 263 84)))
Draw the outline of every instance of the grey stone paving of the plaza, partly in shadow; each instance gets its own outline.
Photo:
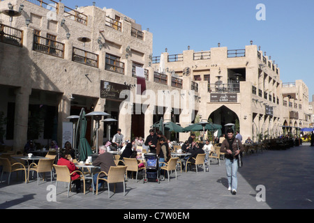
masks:
MULTIPOLYGON (((47 201, 47 186, 50 180, 36 180, 23 183, 21 174, 16 181, 16 174, 11 176, 7 185, 7 174, 0 183, 0 208, 18 209, 66 209, 66 208, 104 208, 104 209, 276 209, 276 208, 314 208, 314 169, 312 157, 314 148, 309 144, 289 148, 286 151, 264 151, 244 157, 244 167, 238 172, 238 192, 232 195, 227 191, 225 161, 211 164, 209 172, 195 171, 174 173, 170 182, 160 184, 141 180, 135 183, 130 179, 126 183, 126 196, 123 187, 117 185, 110 199, 107 186, 100 194, 70 193, 67 198, 64 183, 59 183, 57 201, 47 201), (266 201, 258 202, 261 197, 257 185, 266 188, 266 201)), ((35 174, 36 175, 36 174, 35 174)), ((49 174, 48 174, 49 175, 49 174)), ((55 185, 55 181, 52 182, 55 185)))

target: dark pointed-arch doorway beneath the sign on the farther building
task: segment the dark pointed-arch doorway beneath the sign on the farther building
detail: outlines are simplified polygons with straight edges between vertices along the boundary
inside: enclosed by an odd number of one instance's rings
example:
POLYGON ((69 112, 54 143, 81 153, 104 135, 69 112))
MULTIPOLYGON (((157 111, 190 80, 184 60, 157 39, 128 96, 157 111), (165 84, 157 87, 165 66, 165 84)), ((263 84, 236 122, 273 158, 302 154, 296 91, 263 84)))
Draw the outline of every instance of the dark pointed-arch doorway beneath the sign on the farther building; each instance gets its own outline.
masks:
POLYGON ((225 107, 225 105, 221 106, 220 108, 216 109, 216 111, 212 112, 209 116, 211 121, 215 124, 222 125, 223 128, 221 130, 222 134, 226 134, 226 131, 229 127, 225 126, 226 124, 233 123, 235 124, 236 121, 239 122, 239 117, 235 112, 231 109, 225 107))

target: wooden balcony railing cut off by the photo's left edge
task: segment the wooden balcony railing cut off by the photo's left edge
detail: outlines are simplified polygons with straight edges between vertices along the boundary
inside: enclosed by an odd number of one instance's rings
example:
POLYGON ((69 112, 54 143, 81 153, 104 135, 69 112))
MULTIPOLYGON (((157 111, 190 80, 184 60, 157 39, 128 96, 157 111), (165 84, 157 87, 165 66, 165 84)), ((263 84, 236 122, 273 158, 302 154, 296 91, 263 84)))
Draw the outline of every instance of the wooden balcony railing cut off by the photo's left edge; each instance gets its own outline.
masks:
POLYGON ((0 42, 22 47, 23 31, 5 24, 0 24, 0 42))

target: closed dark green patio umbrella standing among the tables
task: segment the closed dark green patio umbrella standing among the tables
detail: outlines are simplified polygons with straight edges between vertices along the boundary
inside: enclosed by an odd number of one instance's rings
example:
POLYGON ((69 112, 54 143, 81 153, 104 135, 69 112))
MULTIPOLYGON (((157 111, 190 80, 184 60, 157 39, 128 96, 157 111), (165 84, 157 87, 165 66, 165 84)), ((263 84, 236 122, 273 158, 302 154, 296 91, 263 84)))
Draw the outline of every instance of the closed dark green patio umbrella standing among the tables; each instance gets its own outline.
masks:
POLYGON ((80 113, 80 118, 78 120, 78 127, 77 127, 77 134, 80 134, 79 137, 79 143, 78 143, 78 151, 80 154, 79 160, 85 161, 87 160, 87 157, 91 154, 93 154, 93 151, 91 151, 91 146, 89 145, 89 142, 85 138, 86 135, 86 126, 87 126, 87 120, 85 117, 85 111, 84 108, 82 108, 80 113))

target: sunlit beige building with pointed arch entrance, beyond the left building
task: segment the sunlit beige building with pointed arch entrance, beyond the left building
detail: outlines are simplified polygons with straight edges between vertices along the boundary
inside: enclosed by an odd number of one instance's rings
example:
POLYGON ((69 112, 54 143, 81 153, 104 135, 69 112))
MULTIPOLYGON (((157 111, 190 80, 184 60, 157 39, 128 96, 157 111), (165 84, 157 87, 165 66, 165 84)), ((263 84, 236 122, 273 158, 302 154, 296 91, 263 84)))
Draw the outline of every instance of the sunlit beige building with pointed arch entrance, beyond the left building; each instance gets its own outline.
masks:
POLYGON ((243 139, 253 141, 297 134, 308 127, 308 87, 302 80, 282 83, 280 69, 271 56, 247 45, 243 49, 227 47, 209 51, 190 50, 181 54, 155 56, 153 67, 175 77, 190 77, 197 84, 202 119, 223 125, 239 121, 243 139))

